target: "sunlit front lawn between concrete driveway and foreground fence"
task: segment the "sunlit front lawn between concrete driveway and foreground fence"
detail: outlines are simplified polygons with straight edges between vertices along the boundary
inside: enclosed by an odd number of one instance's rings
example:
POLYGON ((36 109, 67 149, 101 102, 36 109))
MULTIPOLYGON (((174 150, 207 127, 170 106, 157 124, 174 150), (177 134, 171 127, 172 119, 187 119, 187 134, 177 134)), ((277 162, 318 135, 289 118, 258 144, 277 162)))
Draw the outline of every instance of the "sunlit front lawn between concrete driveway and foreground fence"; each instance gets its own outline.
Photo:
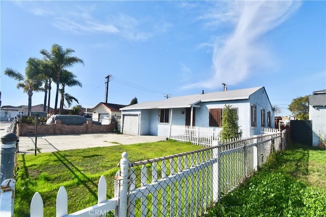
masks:
POLYGON ((68 213, 97 204, 99 177, 105 176, 107 199, 114 196, 114 176, 119 170, 122 152, 130 161, 139 161, 201 149, 201 146, 176 141, 76 149, 37 156, 17 155, 15 216, 29 216, 30 203, 39 192, 44 216, 56 215, 56 197, 60 186, 68 194, 68 213))

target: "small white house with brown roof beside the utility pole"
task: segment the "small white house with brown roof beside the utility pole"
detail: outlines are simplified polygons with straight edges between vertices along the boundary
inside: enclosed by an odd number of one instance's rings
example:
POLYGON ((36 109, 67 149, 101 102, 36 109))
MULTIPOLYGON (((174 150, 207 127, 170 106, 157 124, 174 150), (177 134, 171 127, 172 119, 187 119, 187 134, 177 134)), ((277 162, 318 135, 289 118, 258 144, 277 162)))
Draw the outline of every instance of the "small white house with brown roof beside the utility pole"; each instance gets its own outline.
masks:
POLYGON ((120 108, 125 106, 126 105, 100 102, 92 109, 93 120, 101 122, 102 125, 111 124, 111 122, 115 121, 115 119, 120 119, 120 108))

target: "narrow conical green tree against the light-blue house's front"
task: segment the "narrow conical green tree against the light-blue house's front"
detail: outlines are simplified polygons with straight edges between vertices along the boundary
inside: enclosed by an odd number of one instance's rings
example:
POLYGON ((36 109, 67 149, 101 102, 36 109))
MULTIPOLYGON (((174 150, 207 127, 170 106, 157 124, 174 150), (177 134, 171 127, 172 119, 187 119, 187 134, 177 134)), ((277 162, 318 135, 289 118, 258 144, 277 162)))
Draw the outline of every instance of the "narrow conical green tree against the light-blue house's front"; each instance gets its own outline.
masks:
POLYGON ((241 137, 238 126, 238 116, 236 110, 231 108, 232 105, 225 105, 222 114, 222 131, 221 139, 236 139, 241 137))

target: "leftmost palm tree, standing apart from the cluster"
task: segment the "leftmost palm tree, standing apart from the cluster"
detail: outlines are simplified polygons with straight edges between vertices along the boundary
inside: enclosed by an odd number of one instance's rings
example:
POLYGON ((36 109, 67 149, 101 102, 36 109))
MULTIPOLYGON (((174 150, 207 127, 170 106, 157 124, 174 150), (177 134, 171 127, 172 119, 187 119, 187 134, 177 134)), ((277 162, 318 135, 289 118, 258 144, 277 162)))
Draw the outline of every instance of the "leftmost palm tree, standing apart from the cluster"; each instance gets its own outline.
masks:
POLYGON ((25 69, 25 76, 23 76, 18 71, 12 69, 12 68, 6 68, 5 69, 5 75, 14 78, 15 80, 18 80, 17 83, 17 89, 23 89, 24 93, 27 93, 29 96, 29 105, 28 105, 28 113, 31 114, 32 110, 32 96, 33 91, 39 92, 43 91, 42 88, 42 80, 39 76, 35 75, 35 71, 33 71, 33 66, 30 65, 28 61, 28 66, 25 69))

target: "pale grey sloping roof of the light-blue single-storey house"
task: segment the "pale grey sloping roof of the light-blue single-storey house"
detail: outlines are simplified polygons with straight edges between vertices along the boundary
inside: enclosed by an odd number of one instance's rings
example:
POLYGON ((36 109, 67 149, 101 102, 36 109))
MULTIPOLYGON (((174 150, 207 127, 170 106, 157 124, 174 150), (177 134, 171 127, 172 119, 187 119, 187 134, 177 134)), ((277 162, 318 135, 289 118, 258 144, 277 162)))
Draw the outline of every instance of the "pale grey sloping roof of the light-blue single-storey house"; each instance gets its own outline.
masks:
POLYGON ((262 88, 264 87, 171 97, 160 101, 141 102, 129 105, 121 108, 120 110, 191 107, 199 102, 249 99, 250 95, 262 88))

